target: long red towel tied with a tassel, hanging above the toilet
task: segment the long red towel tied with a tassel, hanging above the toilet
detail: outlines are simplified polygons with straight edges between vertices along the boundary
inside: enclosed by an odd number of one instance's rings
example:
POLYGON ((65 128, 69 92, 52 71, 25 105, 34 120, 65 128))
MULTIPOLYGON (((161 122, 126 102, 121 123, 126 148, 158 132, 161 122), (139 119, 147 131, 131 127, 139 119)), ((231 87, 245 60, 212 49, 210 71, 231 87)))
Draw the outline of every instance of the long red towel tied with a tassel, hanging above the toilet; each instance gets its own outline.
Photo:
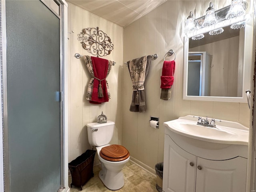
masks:
POLYGON ((108 60, 98 57, 91 57, 91 59, 94 77, 100 79, 101 81, 94 78, 92 100, 90 103, 100 104, 102 102, 108 102, 106 79, 104 79, 108 73, 108 60), (98 97, 99 84, 101 84, 103 97, 98 97))

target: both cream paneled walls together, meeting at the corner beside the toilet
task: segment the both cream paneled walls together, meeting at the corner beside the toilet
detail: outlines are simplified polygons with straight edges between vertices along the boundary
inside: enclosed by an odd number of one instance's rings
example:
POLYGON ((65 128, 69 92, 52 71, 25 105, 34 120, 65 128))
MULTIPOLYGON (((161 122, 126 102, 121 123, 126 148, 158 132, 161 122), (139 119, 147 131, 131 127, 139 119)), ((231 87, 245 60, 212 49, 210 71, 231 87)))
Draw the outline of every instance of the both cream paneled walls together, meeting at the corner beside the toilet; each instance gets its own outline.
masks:
MULTIPOLYGON (((212 0, 212 2, 216 9, 230 4, 230 0, 212 0)), ((134 160, 152 172, 154 165, 163 161, 163 122, 165 121, 192 114, 236 121, 249 126, 250 110, 246 103, 182 100, 184 38, 182 30, 189 12, 194 11, 194 16, 198 18, 205 14, 209 3, 210 0, 166 1, 124 29, 68 3, 68 32, 74 30, 74 33, 68 36, 69 161, 90 149, 86 124, 94 122, 101 111, 109 120, 116 122, 111 143, 122 144, 128 148, 134 160), (85 99, 90 76, 84 60, 74 57, 76 52, 88 55, 78 41, 77 34, 83 28, 96 26, 110 36, 114 50, 106 56, 106 59, 116 62, 107 79, 111 99, 101 105, 89 104, 85 99), (164 55, 170 49, 173 49, 177 55, 176 70, 172 97, 165 101, 160 99, 160 76, 164 55), (158 54, 158 58, 152 61, 145 84, 147 111, 130 112, 132 82, 128 68, 123 63, 154 53, 158 54), (149 126, 150 116, 160 118, 159 129, 149 126)))

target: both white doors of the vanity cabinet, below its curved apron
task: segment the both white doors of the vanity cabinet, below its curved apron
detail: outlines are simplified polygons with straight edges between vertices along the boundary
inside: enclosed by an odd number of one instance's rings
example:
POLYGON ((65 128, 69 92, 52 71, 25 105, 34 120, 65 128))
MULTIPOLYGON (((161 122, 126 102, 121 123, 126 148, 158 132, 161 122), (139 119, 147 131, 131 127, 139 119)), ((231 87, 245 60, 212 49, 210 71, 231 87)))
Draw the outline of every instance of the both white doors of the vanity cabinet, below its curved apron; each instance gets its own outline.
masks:
POLYGON ((163 192, 245 192, 246 158, 209 160, 188 148, 182 149, 165 134, 163 192))

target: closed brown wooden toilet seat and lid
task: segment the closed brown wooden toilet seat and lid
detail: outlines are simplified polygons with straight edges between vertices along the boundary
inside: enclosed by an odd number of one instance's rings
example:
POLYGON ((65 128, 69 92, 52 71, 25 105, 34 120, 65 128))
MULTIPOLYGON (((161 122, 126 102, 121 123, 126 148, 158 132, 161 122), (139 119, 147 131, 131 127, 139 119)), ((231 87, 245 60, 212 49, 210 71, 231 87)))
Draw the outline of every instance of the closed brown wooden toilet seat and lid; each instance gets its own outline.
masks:
POLYGON ((130 153, 124 146, 114 144, 103 147, 100 150, 100 156, 107 161, 118 162, 126 160, 130 153))

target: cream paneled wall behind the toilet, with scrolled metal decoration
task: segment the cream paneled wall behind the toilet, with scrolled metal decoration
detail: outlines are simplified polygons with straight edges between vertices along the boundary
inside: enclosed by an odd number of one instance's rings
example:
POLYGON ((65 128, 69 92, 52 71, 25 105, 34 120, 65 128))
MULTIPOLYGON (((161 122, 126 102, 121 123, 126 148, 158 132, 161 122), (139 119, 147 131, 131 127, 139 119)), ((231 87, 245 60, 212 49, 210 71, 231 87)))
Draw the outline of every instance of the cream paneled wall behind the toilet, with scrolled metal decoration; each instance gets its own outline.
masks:
MULTIPOLYGON (((115 130, 111 143, 122 143, 122 65, 123 65, 123 28, 103 18, 95 16, 78 6, 68 3, 68 161, 70 162, 87 149, 87 127, 95 122, 103 111, 108 120, 114 121, 115 130), (90 55, 78 41, 83 28, 96 28, 105 32, 114 44, 111 54, 105 59, 116 62, 107 78, 111 99, 103 104, 90 104, 86 100, 90 74, 84 59, 74 57, 75 53, 90 55)), ((90 55, 93 56, 93 55, 90 55)))

